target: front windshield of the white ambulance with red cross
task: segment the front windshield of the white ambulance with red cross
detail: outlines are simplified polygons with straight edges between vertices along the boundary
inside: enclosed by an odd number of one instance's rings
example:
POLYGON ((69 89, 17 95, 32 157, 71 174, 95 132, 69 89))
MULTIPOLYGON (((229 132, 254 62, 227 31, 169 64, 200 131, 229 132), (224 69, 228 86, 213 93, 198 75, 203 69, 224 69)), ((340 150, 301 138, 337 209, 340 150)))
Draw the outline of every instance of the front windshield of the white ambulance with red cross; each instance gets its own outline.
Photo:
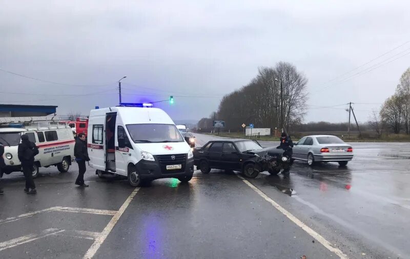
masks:
POLYGON ((183 142, 181 133, 172 124, 129 124, 127 129, 134 143, 183 142))

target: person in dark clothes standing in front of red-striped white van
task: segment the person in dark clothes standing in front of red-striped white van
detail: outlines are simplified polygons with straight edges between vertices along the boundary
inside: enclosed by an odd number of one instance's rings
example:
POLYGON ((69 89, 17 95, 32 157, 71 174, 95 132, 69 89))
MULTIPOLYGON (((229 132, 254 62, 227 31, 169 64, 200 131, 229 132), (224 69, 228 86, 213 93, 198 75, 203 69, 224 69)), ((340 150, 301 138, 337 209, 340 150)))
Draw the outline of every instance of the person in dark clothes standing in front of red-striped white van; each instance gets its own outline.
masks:
POLYGON ((22 143, 18 144, 17 155, 18 160, 22 163, 24 177, 26 178, 26 188, 24 191, 28 194, 37 193, 32 174, 34 167, 34 156, 36 154, 38 154, 38 148, 33 142, 29 141, 29 137, 26 134, 22 135, 22 143))

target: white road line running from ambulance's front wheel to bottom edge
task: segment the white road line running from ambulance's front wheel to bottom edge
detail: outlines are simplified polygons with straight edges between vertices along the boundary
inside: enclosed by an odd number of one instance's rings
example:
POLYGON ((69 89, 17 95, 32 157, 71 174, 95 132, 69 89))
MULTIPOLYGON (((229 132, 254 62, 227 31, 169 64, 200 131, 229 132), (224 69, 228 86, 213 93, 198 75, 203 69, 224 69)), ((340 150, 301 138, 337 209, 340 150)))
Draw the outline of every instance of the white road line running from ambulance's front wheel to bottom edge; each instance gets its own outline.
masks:
POLYGON ((88 249, 87 253, 84 255, 84 259, 91 259, 101 244, 104 243, 106 240, 107 236, 110 234, 111 230, 114 228, 115 224, 117 224, 119 218, 121 217, 122 213, 127 209, 128 205, 130 205, 132 199, 134 196, 137 194, 139 188, 135 188, 130 196, 128 196, 127 200, 124 202, 124 204, 121 205, 121 208, 115 213, 115 215, 111 218, 111 221, 108 223, 108 225, 104 228, 103 232, 101 232, 98 237, 96 238, 94 244, 88 249))

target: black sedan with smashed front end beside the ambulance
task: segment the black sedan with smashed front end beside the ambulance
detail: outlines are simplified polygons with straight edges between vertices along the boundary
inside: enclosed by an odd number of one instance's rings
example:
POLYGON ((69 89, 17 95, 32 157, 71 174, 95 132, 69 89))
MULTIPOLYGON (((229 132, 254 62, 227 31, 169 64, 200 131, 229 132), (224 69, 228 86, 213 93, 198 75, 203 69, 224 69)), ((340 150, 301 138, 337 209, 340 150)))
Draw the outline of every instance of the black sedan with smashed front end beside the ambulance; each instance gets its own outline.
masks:
POLYGON ((254 178, 259 174, 258 166, 262 160, 255 150, 262 150, 262 147, 253 140, 210 141, 194 149, 194 164, 202 173, 222 169, 241 171, 245 176, 254 178))

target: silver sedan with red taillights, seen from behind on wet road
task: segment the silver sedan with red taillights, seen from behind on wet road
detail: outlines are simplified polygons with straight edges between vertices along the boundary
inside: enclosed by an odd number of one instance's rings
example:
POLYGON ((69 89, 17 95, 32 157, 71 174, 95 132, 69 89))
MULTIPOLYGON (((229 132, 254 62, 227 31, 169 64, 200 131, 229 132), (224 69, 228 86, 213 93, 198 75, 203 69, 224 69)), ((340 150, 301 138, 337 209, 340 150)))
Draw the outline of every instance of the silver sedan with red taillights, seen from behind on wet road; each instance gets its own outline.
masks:
POLYGON ((293 158, 306 161, 310 166, 319 162, 338 162, 345 166, 353 159, 353 148, 337 136, 305 136, 295 144, 293 158))

